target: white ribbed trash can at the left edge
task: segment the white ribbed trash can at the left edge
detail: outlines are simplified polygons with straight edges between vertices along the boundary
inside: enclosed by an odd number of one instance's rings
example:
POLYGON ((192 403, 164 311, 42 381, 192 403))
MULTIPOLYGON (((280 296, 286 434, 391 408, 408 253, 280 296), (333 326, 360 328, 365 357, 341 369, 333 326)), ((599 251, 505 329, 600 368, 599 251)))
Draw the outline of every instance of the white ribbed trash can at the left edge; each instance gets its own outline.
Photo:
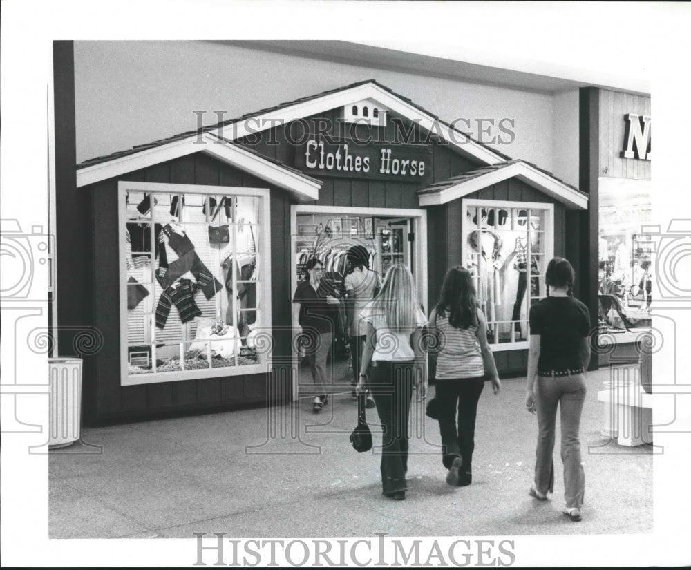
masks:
POLYGON ((48 359, 48 449, 72 445, 82 430, 82 359, 48 359))

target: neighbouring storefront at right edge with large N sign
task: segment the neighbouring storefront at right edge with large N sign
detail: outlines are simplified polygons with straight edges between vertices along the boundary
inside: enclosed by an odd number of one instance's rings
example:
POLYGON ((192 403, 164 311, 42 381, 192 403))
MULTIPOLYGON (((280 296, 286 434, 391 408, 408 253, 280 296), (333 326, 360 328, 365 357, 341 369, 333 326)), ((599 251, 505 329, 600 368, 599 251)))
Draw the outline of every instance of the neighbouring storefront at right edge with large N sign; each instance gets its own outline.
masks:
POLYGON ((638 358, 650 327, 654 280, 651 221, 650 97, 600 90, 598 166, 598 294, 600 332, 618 361, 638 358))

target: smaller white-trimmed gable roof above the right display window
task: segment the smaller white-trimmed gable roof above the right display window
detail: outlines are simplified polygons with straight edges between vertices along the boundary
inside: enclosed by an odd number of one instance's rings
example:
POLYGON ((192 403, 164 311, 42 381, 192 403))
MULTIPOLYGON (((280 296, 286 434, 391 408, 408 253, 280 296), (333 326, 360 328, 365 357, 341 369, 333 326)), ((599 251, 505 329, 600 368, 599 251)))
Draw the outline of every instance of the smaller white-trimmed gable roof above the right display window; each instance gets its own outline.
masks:
POLYGON ((518 178, 529 186, 563 202, 569 209, 587 209, 588 195, 562 182, 553 174, 524 160, 511 160, 492 164, 443 180, 417 192, 421 206, 446 204, 497 184, 509 178, 518 178))

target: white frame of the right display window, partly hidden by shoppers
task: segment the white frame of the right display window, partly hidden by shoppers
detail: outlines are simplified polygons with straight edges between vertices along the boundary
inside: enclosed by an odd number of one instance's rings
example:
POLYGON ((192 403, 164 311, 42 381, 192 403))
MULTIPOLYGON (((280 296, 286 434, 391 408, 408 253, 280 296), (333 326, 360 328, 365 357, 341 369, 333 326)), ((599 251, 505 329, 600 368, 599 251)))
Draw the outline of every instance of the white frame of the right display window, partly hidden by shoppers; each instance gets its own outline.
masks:
MULTIPOLYGON (((465 198, 462 200, 462 220, 464 225, 468 219, 468 208, 472 207, 484 207, 484 208, 494 208, 494 209, 531 209, 531 210, 542 210, 545 211, 545 269, 547 269, 547 262, 554 257, 554 205, 549 202, 510 202, 509 200, 474 200, 465 198)), ((465 260, 468 255, 468 240, 466 236, 467 231, 463 231, 463 240, 461 243, 461 259, 465 260)), ((528 271, 530 271, 530 262, 528 271)), ((526 289, 526 297, 528 301, 528 312, 530 312, 531 301, 530 301, 530 273, 527 276, 528 283, 526 289)), ((544 279, 544 276, 542 276, 544 279)), ((526 315, 526 320, 528 315, 526 315)), ((530 326, 530 325, 528 325, 530 326)), ((530 329, 528 328, 526 334, 526 340, 517 341, 513 343, 490 343, 489 347, 492 352, 502 352, 504 350, 524 350, 529 348, 530 345, 530 329)))

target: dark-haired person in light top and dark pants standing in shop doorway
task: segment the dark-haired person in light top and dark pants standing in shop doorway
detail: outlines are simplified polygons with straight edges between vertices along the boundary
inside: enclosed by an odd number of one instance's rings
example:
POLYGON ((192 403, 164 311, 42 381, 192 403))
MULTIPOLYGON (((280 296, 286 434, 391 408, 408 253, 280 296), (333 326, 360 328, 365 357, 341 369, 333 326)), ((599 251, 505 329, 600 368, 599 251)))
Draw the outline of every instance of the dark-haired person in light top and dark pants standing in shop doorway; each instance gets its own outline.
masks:
MULTIPOLYGON (((377 296, 381 288, 381 278, 377 272, 370 269, 370 252, 364 245, 354 245, 348 249, 348 262, 352 272, 345 276, 345 330, 350 344, 350 358, 352 363, 351 381, 353 395, 360 374, 362 350, 365 345, 366 323, 360 319, 363 308, 377 296)), ((374 408, 375 400, 372 395, 367 396, 366 407, 374 408)))

